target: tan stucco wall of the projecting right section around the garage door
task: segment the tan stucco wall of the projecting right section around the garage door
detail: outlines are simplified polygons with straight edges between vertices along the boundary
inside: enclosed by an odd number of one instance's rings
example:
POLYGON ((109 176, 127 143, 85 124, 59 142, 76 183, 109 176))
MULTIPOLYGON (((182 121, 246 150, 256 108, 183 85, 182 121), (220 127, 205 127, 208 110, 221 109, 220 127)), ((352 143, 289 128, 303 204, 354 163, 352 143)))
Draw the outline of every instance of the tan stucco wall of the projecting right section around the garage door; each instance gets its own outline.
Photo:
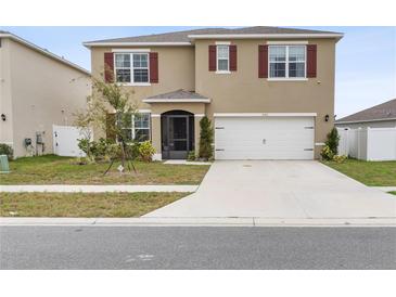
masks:
MULTIPOLYGON (((334 118, 335 40, 308 40, 318 47, 317 77, 303 81, 268 81, 266 78, 258 78, 258 44, 265 44, 266 41, 231 40, 238 47, 238 70, 231 74, 207 70, 207 48, 214 44, 214 40, 195 42, 195 90, 212 99, 207 115, 317 113, 315 142, 324 142, 334 118), (329 115, 329 121, 324 121, 325 115, 329 115)), ((316 157, 320 150, 321 146, 316 146, 316 157)))

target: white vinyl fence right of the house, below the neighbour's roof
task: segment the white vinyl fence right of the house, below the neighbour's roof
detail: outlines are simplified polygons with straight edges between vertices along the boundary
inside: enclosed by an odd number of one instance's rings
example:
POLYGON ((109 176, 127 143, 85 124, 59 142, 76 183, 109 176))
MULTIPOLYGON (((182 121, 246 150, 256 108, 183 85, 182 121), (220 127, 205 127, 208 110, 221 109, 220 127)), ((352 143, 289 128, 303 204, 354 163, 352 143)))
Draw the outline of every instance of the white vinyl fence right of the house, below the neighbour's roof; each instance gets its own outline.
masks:
POLYGON ((396 160, 396 128, 337 128, 338 155, 363 160, 396 160))

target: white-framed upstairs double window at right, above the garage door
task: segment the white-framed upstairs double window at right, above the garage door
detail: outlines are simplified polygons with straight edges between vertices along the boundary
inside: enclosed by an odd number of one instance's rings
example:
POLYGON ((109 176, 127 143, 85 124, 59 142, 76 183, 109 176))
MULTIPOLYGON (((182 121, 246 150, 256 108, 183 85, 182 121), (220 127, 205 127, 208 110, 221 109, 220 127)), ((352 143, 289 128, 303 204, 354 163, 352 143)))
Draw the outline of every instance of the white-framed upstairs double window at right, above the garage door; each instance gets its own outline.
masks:
POLYGON ((305 78, 306 46, 270 46, 270 78, 305 78))

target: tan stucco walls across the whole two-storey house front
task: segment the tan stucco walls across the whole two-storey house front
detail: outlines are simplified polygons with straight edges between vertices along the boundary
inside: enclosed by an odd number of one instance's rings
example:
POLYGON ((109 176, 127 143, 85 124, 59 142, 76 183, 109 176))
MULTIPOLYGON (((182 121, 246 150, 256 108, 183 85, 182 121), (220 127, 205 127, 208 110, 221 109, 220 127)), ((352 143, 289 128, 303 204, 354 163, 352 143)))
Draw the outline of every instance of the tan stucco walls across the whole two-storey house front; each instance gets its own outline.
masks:
MULTIPOLYGON (((214 119, 215 113, 316 113, 315 156, 319 156, 321 143, 333 127, 334 118, 334 67, 335 39, 312 39, 317 44, 317 77, 302 81, 269 81, 258 78, 258 44, 268 40, 227 40, 238 46, 238 70, 216 74, 208 70, 208 46, 216 40, 195 40, 189 47, 128 47, 144 48, 158 52, 159 82, 133 89, 133 100, 140 108, 152 112, 152 141, 161 153, 161 121, 158 115, 171 109, 184 109, 205 114, 214 119), (165 92, 184 89, 195 91, 210 99, 210 103, 143 103, 142 100, 165 92), (196 111, 195 111, 196 109, 196 111), (329 121, 324 120, 329 115, 329 121)), ((277 41, 280 41, 277 39, 277 41)), ((282 40, 288 44, 289 40, 282 40)), ((116 47, 114 49, 122 49, 116 47)), ((104 52, 113 48, 92 47, 92 74, 99 76, 104 69, 104 52)), ((195 120, 195 128, 197 128, 195 120)), ((199 129, 195 129, 199 131, 199 129)), ((199 137, 195 134, 195 148, 199 137)))

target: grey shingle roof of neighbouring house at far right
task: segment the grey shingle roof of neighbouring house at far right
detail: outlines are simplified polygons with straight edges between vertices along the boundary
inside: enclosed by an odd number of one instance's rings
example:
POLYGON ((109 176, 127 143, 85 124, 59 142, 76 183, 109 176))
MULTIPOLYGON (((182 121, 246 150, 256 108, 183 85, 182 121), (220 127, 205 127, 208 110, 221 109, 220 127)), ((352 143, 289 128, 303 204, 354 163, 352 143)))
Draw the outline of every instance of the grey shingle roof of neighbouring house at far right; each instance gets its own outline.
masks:
POLYGON ((350 116, 340 118, 335 122, 365 121, 365 120, 375 120, 375 119, 384 120, 394 118, 396 118, 396 99, 375 105, 368 109, 358 112, 350 116))

